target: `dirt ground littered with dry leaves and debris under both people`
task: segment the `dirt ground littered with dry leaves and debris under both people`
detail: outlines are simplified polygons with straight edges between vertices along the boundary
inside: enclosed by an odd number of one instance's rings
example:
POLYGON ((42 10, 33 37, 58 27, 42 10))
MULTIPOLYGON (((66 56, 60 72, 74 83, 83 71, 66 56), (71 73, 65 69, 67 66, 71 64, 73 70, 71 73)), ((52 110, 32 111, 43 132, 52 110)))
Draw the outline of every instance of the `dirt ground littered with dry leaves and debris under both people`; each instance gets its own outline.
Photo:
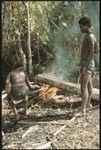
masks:
MULTIPOLYGON (((28 115, 15 120, 12 110, 5 100, 2 101, 2 149, 37 149, 52 143, 45 149, 100 149, 99 108, 89 110, 84 117, 77 117, 64 127, 55 138, 53 134, 72 119, 72 112, 81 105, 81 98, 69 95, 65 105, 52 102, 36 103, 29 107, 28 115), (26 131, 30 132, 26 135, 26 131)), ((61 99, 62 101, 62 99, 61 99)), ((98 102, 92 101, 93 106, 98 102)))

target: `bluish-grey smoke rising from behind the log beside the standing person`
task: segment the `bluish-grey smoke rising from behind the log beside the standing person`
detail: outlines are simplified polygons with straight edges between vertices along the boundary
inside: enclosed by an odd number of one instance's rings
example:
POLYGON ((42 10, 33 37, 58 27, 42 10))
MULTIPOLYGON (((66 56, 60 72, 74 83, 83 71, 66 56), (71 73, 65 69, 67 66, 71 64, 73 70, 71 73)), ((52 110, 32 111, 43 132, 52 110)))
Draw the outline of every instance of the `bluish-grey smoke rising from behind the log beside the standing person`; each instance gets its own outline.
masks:
MULTIPOLYGON (((77 81, 78 63, 80 59, 80 48, 79 50, 77 49, 77 44, 82 43, 83 37, 78 25, 78 19, 82 16, 78 12, 79 9, 76 9, 79 3, 73 2, 70 7, 70 10, 77 17, 71 18, 71 23, 68 20, 60 21, 58 28, 55 30, 53 43, 55 60, 47 68, 46 72, 44 72, 50 78, 55 78, 60 81, 77 81)), ((93 31, 99 40, 99 2, 84 1, 84 3, 82 2, 83 4, 85 6, 84 13, 92 19, 93 31)))

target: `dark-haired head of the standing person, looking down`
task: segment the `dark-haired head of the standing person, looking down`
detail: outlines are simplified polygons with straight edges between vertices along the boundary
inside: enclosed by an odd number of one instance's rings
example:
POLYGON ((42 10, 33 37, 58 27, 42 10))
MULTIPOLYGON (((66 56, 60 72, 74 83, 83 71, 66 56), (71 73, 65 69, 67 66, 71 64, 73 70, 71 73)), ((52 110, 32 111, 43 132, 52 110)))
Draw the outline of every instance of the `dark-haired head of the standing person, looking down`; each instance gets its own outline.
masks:
POLYGON ((91 19, 89 17, 82 17, 78 21, 80 30, 82 33, 87 33, 89 29, 91 28, 91 19))

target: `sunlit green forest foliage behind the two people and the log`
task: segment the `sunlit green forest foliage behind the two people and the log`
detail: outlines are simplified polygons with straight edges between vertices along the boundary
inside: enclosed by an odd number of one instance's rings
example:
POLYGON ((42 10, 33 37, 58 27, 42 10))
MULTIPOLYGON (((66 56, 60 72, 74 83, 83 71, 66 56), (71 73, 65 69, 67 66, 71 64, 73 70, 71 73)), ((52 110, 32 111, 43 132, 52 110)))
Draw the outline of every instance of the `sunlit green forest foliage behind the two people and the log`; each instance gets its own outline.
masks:
MULTIPOLYGON (((29 1, 32 63, 36 72, 51 65, 54 75, 75 81, 82 35, 78 19, 82 13, 98 21, 98 3, 81 1, 29 1), (92 6, 93 9, 89 10, 92 6), (96 8, 95 8, 96 7, 96 8), (86 12, 85 12, 86 10, 86 12), (94 17, 92 11, 96 12, 94 17), (37 69, 36 69, 37 68, 37 69)), ((96 35, 99 28, 96 27, 96 35)), ((21 32, 21 44, 27 56, 27 14, 23 1, 2 1, 2 59, 4 80, 19 59, 16 32, 21 32)), ((34 72, 35 72, 34 70, 34 72)))

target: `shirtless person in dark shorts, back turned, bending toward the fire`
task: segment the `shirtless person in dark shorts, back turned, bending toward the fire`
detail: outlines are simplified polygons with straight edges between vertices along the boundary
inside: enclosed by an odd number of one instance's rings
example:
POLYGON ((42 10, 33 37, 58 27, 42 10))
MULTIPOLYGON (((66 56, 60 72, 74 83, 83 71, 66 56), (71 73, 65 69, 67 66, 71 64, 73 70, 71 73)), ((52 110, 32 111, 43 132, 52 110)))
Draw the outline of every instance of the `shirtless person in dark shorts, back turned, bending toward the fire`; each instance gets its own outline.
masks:
POLYGON ((14 104, 14 100, 23 99, 24 101, 24 114, 27 114, 27 100, 28 90, 34 89, 25 73, 25 69, 22 64, 18 63, 15 65, 15 70, 10 72, 6 79, 5 90, 8 94, 7 100, 14 111, 16 117, 18 112, 14 104))

